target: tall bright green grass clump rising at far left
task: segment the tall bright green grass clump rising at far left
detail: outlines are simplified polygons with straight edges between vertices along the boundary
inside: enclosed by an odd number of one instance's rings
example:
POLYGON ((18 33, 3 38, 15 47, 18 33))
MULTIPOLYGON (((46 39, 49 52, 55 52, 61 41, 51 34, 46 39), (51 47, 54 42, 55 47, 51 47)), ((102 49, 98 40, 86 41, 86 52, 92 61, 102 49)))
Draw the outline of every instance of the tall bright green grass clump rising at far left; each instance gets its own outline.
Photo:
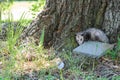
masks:
MULTIPOLYGON (((11 54, 15 55, 17 53, 15 49, 15 45, 18 41, 18 38, 20 37, 23 27, 21 26, 20 21, 24 19, 25 14, 21 16, 20 20, 18 21, 17 25, 8 25, 7 29, 7 45, 8 45, 8 50, 10 51, 11 54)), ((12 15, 9 15, 8 22, 14 22, 12 15)))

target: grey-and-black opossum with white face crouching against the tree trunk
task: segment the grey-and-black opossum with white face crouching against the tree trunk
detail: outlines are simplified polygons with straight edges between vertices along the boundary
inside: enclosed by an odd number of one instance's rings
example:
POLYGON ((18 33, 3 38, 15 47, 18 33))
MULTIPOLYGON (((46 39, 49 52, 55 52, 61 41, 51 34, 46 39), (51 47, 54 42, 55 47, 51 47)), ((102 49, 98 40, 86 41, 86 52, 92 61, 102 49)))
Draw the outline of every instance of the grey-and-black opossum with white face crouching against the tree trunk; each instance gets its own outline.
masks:
POLYGON ((76 41, 81 45, 84 41, 99 41, 109 43, 109 39, 106 34, 100 29, 89 28, 85 31, 76 33, 76 41))

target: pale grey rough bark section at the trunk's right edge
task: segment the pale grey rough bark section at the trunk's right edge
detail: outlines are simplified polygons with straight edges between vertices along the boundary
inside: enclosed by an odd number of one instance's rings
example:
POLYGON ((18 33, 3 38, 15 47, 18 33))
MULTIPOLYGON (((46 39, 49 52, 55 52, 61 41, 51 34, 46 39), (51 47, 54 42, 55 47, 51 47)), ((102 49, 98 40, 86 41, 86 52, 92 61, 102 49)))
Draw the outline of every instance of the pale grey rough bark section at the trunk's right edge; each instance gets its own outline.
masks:
POLYGON ((120 36, 120 0, 110 0, 104 13, 103 29, 111 43, 120 36))

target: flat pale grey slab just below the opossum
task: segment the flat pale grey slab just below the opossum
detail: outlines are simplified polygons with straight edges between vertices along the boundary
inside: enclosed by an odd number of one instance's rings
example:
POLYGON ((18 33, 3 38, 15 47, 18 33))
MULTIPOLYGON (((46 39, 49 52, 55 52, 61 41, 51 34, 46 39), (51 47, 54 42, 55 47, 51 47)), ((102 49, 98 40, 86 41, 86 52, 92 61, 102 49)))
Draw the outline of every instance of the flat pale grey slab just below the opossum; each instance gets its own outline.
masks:
POLYGON ((112 49, 113 46, 113 44, 111 45, 97 41, 88 41, 75 48, 73 53, 83 54, 91 58, 99 58, 103 56, 108 49, 112 49))

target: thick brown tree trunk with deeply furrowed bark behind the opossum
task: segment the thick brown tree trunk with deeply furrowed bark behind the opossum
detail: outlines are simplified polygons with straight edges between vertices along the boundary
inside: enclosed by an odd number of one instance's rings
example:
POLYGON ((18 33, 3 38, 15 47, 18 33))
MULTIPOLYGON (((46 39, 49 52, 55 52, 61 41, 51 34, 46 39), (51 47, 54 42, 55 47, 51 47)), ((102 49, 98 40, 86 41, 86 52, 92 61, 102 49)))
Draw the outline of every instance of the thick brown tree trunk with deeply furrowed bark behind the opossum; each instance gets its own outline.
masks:
POLYGON ((75 33, 99 28, 116 42, 120 33, 120 0, 46 0, 44 10, 24 30, 21 38, 39 39, 45 28, 45 47, 72 49, 75 33))

